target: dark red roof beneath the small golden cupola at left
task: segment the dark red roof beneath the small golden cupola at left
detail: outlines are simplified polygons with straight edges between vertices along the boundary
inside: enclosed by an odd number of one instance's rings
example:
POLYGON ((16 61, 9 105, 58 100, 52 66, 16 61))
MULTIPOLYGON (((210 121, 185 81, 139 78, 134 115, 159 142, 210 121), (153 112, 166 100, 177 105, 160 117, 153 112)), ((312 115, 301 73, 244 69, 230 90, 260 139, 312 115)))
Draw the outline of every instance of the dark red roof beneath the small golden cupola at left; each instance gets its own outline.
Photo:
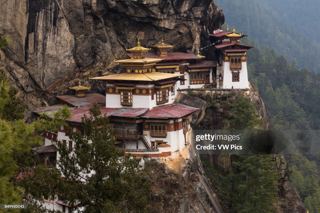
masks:
POLYGON ((57 95, 56 97, 75 107, 85 106, 93 102, 99 103, 106 101, 106 97, 98 93, 85 94, 85 96, 81 98, 76 97, 76 95, 57 95))

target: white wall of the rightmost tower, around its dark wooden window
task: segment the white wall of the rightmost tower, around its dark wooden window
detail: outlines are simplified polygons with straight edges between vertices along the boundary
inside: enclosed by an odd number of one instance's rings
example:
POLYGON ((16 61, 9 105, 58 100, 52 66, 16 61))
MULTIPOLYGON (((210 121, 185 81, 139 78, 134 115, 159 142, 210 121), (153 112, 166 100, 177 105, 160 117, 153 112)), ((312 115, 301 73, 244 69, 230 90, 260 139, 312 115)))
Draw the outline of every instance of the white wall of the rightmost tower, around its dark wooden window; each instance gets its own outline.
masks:
POLYGON ((242 69, 239 74, 239 82, 232 81, 232 72, 230 70, 230 62, 222 62, 222 70, 223 70, 223 88, 231 89, 233 86, 234 89, 245 89, 249 88, 248 83, 248 71, 247 71, 247 63, 242 62, 242 69))

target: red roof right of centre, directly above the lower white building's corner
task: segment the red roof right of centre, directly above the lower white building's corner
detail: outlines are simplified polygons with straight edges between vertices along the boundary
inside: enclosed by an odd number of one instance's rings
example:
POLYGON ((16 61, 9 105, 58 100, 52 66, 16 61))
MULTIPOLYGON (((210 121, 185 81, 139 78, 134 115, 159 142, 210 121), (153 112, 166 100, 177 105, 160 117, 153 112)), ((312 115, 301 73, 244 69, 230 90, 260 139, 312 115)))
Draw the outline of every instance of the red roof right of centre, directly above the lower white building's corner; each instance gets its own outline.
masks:
POLYGON ((199 108, 191 107, 183 104, 166 104, 163 106, 154 107, 140 117, 144 118, 182 118, 199 108))

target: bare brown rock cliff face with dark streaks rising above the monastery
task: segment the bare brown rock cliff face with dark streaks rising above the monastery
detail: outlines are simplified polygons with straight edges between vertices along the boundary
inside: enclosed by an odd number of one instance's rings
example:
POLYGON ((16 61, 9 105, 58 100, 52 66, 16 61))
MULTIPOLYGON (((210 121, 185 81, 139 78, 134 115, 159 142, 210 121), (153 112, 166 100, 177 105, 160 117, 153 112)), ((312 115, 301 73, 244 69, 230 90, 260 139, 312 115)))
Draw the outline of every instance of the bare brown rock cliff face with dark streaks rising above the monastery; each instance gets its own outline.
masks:
POLYGON ((113 60, 125 48, 149 47, 164 37, 175 51, 195 52, 224 22, 211 0, 16 0, 0 4, 0 35, 12 40, 0 68, 28 104, 28 112, 69 94, 78 79, 121 72, 113 60), (101 72, 99 72, 101 71, 101 72))

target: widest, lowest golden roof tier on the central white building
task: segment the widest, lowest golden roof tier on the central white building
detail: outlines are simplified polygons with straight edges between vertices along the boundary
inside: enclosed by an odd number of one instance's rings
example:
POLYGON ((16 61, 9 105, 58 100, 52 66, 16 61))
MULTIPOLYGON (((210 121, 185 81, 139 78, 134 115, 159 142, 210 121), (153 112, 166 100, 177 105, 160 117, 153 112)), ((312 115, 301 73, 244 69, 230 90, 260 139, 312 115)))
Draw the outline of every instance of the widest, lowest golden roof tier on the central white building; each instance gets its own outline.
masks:
POLYGON ((147 72, 147 73, 121 73, 96 77, 96 80, 133 80, 133 81, 157 81, 184 76, 184 74, 172 74, 164 72, 147 72))

